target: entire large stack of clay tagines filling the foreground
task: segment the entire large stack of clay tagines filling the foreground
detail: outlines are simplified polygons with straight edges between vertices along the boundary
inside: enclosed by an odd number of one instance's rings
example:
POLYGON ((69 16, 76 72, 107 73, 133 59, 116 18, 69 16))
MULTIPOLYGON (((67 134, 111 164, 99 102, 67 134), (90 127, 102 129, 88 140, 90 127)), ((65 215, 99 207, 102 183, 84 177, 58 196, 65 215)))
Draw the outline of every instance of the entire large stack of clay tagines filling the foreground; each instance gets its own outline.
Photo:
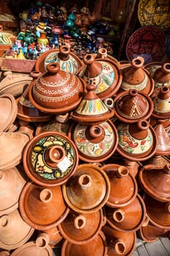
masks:
POLYGON ((133 255, 169 237, 169 86, 141 57, 75 71, 61 50, 20 93, 0 83, 0 255, 133 255))

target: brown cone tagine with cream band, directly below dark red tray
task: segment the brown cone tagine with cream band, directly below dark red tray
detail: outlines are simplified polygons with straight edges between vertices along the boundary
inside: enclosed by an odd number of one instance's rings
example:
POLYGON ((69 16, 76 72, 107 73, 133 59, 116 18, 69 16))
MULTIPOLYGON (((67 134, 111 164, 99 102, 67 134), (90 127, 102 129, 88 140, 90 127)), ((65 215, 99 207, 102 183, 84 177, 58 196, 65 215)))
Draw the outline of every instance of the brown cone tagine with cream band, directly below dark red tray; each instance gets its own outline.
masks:
POLYGON ((137 56, 131 60, 129 67, 125 64, 125 67, 121 67, 123 73, 123 80, 120 86, 120 90, 129 91, 136 89, 136 91, 144 92, 150 96, 154 90, 154 80, 150 75, 150 72, 144 68, 144 58, 137 56))

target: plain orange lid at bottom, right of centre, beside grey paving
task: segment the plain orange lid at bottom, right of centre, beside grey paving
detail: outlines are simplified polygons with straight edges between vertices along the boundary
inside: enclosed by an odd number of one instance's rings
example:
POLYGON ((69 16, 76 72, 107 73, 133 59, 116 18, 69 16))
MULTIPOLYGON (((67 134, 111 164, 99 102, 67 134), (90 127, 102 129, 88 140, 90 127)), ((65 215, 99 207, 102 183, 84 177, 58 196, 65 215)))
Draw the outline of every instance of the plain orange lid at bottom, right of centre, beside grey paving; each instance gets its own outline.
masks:
POLYGON ((107 255, 134 255, 136 249, 136 233, 125 233, 104 225, 102 231, 107 239, 107 255))

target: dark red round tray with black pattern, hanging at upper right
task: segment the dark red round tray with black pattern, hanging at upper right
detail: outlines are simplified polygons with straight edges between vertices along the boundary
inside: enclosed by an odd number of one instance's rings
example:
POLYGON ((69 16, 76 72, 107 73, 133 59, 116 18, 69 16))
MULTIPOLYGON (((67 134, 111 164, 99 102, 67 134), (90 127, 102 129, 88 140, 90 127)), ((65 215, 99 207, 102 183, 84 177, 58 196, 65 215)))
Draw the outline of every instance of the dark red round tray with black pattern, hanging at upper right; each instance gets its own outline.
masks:
POLYGON ((144 64, 150 61, 161 61, 165 54, 166 36, 156 26, 145 26, 136 29, 126 44, 125 53, 129 61, 142 56, 144 64))

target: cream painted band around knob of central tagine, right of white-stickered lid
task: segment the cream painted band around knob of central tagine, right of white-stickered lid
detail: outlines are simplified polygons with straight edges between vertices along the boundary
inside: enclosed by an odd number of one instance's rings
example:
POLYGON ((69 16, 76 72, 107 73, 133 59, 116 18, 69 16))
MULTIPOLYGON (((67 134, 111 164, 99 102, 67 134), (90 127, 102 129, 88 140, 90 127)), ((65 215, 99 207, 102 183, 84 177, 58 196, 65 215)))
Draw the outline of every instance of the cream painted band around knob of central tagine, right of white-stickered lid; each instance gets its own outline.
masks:
POLYGON ((85 135, 88 126, 77 124, 74 129, 74 143, 82 154, 88 157, 100 157, 112 148, 115 142, 115 134, 109 123, 100 124, 104 129, 104 139, 98 143, 90 142, 85 135))

